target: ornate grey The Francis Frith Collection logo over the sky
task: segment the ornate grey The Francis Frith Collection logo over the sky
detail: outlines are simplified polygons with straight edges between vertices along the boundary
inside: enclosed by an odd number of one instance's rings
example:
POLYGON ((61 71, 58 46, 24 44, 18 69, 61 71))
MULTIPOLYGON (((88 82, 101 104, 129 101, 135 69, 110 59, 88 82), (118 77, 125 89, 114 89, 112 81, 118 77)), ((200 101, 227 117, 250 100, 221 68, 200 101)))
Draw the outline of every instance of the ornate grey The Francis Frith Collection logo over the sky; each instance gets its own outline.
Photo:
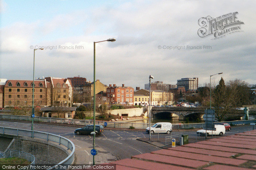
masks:
POLYGON ((212 35, 213 39, 217 39, 234 32, 240 32, 241 24, 244 24, 244 22, 237 19, 237 14, 238 12, 233 12, 216 18, 211 16, 201 17, 198 20, 198 25, 201 26, 198 29, 199 37, 212 35))

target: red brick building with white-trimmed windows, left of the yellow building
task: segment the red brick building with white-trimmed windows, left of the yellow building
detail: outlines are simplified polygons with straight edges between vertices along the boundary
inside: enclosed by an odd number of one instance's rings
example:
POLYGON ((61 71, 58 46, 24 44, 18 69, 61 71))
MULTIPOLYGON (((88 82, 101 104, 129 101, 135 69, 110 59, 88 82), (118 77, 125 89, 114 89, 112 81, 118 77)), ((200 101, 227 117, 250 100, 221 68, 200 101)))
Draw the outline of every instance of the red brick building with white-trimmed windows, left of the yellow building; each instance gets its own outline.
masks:
POLYGON ((134 89, 127 87, 124 84, 122 86, 113 86, 110 84, 107 88, 107 101, 110 104, 128 104, 133 105, 134 89))

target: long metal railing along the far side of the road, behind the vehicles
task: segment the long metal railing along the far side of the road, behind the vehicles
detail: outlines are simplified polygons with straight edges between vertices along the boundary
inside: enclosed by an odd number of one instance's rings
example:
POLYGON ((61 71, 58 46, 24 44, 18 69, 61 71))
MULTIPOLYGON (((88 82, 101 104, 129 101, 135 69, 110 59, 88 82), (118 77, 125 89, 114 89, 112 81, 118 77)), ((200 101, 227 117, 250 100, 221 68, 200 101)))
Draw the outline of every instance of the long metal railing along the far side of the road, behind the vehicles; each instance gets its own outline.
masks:
MULTIPOLYGON (((22 115, 0 115, 0 119, 11 119, 11 120, 22 120, 22 121, 32 121, 30 116, 22 115)), ((47 117, 34 117, 34 121, 39 122, 49 122, 49 123, 58 123, 58 124, 77 124, 77 125, 88 125, 93 124, 93 120, 79 120, 79 119, 65 119, 65 118, 47 118, 47 117)), ((136 129, 145 129, 148 127, 147 123, 133 123, 133 122, 120 122, 120 121, 95 121, 96 124, 104 125, 107 123, 107 127, 113 128, 129 128, 135 127, 136 129)), ((214 122, 218 124, 219 122, 214 122)), ((224 123, 224 122, 221 122, 224 123)), ((243 120, 243 121, 225 121, 230 125, 240 125, 240 124, 250 124, 256 123, 255 120, 243 120)), ((152 126, 153 124, 151 124, 152 126)), ((196 123, 196 124, 172 124, 172 129, 194 129, 194 128, 203 128, 205 123, 196 123)))

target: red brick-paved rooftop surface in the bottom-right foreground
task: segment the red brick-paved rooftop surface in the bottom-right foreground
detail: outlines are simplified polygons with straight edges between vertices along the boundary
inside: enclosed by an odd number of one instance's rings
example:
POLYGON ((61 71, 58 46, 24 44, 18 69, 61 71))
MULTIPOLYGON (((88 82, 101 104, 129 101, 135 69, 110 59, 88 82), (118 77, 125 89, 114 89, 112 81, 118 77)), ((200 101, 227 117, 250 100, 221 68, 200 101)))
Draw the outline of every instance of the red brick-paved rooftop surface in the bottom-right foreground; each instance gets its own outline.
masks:
POLYGON ((256 170, 256 130, 111 162, 117 170, 256 170))

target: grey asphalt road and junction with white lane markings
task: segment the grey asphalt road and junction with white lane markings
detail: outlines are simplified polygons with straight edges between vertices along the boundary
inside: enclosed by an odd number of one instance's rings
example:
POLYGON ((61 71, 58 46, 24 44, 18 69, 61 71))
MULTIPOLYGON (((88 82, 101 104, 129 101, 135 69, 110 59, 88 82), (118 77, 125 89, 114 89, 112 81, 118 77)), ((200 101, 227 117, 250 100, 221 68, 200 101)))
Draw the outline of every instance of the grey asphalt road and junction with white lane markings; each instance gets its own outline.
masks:
MULTIPOLYGON (((31 130, 31 123, 27 122, 0 121, 0 126, 31 130)), ((252 126, 250 125, 235 126, 231 128, 232 130, 226 131, 225 135, 233 135, 236 133, 252 130, 252 126)), ((77 127, 37 123, 34 124, 34 130, 64 136, 65 138, 69 138, 71 141, 77 141, 80 147, 87 145, 88 143, 93 143, 92 135, 75 135, 75 129, 77 129, 77 127)), ((181 133, 183 132, 174 132, 173 134, 181 133)), ((186 132, 186 134, 189 134, 189 138, 193 139, 193 136, 196 134, 196 130, 186 132)), ((168 135, 164 134, 160 136, 165 138, 168 135)), ((131 156, 134 155, 150 153, 160 149, 159 147, 155 147, 151 144, 137 141, 137 138, 148 138, 148 134, 145 133, 145 131, 105 130, 102 135, 96 136, 96 147, 101 147, 108 153, 111 153, 117 159, 131 158, 131 156)), ((152 138, 156 139, 157 135, 152 135, 152 138)), ((162 141, 162 143, 164 142, 165 141, 162 141)), ((90 150, 87 150, 87 152, 90 153, 90 150)))

